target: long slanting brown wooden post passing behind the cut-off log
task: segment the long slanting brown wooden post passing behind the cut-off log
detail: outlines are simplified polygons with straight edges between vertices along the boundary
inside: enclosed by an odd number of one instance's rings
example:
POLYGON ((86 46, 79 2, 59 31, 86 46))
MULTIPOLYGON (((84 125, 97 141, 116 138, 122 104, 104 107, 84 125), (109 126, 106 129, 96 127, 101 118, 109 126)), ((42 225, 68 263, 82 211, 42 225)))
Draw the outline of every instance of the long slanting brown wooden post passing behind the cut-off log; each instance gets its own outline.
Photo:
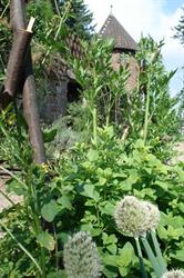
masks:
MULTIPOLYGON (((10 9, 11 27, 13 29, 14 36, 17 36, 19 29, 25 29, 24 0, 11 0, 10 9)), ((33 150, 33 161, 37 163, 44 163, 47 159, 38 111, 30 48, 28 49, 28 56, 24 64, 23 111, 29 128, 29 137, 33 150)))

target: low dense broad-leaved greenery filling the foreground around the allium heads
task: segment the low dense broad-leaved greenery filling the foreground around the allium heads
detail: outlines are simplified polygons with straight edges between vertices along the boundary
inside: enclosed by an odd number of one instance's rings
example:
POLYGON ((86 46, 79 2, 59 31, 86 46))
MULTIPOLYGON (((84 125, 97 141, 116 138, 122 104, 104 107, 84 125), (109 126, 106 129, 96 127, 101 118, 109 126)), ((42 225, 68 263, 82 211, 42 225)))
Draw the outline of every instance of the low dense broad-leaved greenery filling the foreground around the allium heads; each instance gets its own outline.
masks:
MULTIPOLYGON (((93 143, 79 143, 50 166, 50 177, 53 175, 53 178, 48 180, 45 170, 32 167, 31 185, 25 187, 14 179, 9 182, 9 189, 24 195, 25 203, 4 211, 1 217, 34 258, 39 258, 40 248, 43 247, 48 275, 55 271, 55 261, 58 269, 62 269, 62 249, 68 235, 85 230, 98 244, 104 277, 141 276, 134 244, 119 234, 112 217, 116 201, 124 195, 157 203, 162 212, 159 238, 164 257, 170 267, 182 267, 182 167, 162 163, 141 140, 134 142, 132 152, 127 155, 121 140, 114 136, 113 128, 109 127, 99 130, 98 149, 93 143), (40 232, 34 230, 35 215, 44 219, 40 232)), ((30 175, 30 170, 28 172, 30 175)), ((16 277, 30 275, 31 271, 37 274, 31 260, 19 250, 9 235, 1 242, 2 274, 14 271, 16 277)), ((152 272, 149 260, 146 269, 152 272)))

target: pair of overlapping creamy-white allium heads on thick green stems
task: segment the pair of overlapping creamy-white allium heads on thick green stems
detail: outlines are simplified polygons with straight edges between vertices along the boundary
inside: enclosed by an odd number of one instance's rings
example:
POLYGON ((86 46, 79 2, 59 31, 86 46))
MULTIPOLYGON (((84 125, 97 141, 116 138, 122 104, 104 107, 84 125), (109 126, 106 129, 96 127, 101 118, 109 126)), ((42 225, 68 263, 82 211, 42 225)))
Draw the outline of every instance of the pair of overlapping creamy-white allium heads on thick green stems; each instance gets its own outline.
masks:
POLYGON ((114 219, 119 230, 129 237, 144 236, 147 230, 154 230, 160 220, 156 206, 141 201, 134 196, 126 196, 115 209, 114 219))

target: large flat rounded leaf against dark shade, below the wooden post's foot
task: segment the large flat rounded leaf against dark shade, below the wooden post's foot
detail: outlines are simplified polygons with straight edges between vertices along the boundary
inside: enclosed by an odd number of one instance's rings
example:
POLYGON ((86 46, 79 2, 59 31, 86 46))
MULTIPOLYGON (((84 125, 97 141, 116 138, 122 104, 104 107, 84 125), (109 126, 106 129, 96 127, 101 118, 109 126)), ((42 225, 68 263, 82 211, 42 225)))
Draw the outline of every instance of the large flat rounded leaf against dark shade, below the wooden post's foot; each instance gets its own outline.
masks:
POLYGON ((52 222, 58 212, 61 210, 61 207, 57 201, 51 200, 49 203, 45 203, 41 209, 41 215, 48 222, 52 222))

